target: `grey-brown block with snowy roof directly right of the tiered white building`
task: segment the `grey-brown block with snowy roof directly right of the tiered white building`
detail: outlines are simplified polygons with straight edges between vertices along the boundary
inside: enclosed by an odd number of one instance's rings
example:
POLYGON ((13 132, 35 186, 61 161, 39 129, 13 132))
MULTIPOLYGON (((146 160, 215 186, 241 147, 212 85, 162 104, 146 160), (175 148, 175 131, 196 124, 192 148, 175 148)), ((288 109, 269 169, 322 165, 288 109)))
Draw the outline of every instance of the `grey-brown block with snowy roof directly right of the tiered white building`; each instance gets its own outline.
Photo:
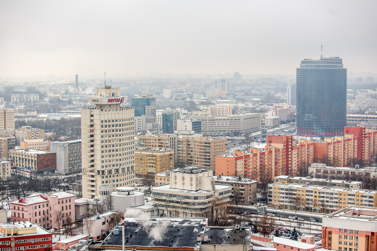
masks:
POLYGON ((232 187, 231 199, 234 204, 251 205, 257 202, 256 180, 235 176, 215 176, 216 184, 227 184, 232 187))

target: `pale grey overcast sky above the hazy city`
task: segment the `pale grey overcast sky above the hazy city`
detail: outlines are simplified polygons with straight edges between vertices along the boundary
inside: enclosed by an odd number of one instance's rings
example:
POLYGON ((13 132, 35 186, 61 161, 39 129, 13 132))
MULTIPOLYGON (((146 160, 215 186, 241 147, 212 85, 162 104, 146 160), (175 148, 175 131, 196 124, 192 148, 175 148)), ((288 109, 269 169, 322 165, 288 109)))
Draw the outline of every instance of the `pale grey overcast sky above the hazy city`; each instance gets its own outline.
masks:
POLYGON ((377 68, 377 1, 4 1, 0 76, 377 68))

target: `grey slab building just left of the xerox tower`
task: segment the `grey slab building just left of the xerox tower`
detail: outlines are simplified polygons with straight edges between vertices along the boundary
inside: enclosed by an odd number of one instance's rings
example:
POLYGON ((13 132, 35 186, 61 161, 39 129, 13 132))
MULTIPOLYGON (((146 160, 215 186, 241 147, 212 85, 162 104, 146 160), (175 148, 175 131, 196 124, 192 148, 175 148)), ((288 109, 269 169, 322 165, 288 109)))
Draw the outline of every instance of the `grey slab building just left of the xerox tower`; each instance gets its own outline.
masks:
POLYGON ((56 153, 58 173, 67 175, 81 172, 81 140, 51 142, 51 152, 56 153))

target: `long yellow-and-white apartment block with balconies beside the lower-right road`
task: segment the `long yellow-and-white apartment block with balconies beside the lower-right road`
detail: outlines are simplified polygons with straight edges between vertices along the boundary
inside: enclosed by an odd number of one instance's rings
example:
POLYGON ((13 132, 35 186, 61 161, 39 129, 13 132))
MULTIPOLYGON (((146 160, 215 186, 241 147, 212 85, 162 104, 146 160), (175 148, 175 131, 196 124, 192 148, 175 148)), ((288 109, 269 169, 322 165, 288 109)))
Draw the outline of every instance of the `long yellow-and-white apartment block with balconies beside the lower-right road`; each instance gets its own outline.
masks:
POLYGON ((268 184, 268 207, 332 213, 350 205, 376 207, 377 191, 287 181, 268 184))

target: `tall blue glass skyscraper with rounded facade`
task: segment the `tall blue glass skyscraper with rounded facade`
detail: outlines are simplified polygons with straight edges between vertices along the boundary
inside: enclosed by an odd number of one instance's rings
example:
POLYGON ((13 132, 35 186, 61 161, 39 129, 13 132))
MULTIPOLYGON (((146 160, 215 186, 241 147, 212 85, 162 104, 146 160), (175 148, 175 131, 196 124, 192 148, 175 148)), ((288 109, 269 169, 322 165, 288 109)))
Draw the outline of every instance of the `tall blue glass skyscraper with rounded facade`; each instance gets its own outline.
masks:
POLYGON ((347 69, 339 57, 304 59, 296 69, 297 135, 334 137, 346 126, 347 69))

